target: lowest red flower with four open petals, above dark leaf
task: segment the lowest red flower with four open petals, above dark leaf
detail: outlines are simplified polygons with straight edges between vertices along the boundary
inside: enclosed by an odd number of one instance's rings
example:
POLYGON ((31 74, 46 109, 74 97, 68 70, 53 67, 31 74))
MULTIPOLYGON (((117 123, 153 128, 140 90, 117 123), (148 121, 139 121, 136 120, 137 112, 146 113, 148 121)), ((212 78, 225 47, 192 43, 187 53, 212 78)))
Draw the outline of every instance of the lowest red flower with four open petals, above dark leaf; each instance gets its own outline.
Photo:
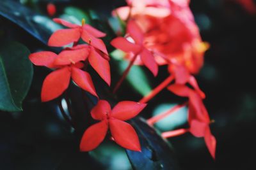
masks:
POLYGON ((80 150, 88 152, 97 148, 110 129, 111 136, 118 145, 140 152, 140 141, 136 131, 124 121, 136 117, 145 106, 147 104, 122 101, 111 110, 107 101, 99 101, 92 109, 91 115, 100 122, 86 129, 81 139, 80 150))

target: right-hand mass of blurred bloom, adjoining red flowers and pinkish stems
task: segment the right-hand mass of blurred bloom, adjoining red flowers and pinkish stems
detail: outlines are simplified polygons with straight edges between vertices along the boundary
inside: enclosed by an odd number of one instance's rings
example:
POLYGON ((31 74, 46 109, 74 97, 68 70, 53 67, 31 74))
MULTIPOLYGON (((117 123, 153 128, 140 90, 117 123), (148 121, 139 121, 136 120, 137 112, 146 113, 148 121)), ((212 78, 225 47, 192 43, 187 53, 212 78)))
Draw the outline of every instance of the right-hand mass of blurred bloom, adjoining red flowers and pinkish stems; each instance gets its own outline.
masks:
MULTIPOLYGON (((163 137, 191 132, 196 137, 205 138, 209 152, 215 157, 216 139, 211 134, 211 120, 202 101, 205 94, 192 75, 203 66, 204 52, 209 45, 200 37, 189 9, 189 0, 127 0, 127 6, 117 8, 113 15, 127 22, 125 38, 118 37, 111 42, 126 53, 124 59, 130 60, 131 64, 144 64, 155 76, 157 65, 168 65, 170 76, 140 103, 147 103, 166 87, 174 94, 189 99, 189 129, 164 132, 163 137)), ((173 111, 151 118, 148 124, 156 123, 173 111)))

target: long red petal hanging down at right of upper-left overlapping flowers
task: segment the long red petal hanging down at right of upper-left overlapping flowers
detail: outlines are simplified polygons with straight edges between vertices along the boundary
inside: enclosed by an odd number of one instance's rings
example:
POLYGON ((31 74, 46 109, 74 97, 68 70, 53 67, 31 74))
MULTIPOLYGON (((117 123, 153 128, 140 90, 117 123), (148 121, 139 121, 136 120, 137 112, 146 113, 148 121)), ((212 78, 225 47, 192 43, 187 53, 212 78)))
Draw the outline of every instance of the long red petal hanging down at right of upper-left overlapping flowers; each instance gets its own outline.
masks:
POLYGON ((92 47, 89 55, 89 62, 93 69, 97 71, 100 77, 110 85, 111 77, 110 77, 110 66, 109 62, 106 59, 96 52, 96 50, 92 47))

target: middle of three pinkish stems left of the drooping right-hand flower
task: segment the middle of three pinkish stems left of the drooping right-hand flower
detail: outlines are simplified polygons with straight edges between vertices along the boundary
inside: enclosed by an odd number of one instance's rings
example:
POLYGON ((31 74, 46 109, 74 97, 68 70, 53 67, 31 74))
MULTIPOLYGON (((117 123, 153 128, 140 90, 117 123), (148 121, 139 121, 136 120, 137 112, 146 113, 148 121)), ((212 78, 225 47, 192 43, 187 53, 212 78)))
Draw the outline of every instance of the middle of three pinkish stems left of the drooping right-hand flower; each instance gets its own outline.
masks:
POLYGON ((174 113, 175 111, 179 110, 180 108, 186 106, 187 102, 186 103, 183 103, 183 104, 178 104, 176 106, 174 106, 173 108, 171 108, 170 110, 168 111, 165 111, 164 113, 161 113, 159 115, 156 115, 156 117, 152 117, 152 118, 149 118, 147 120, 147 123, 148 125, 153 125, 155 124, 156 122, 158 122, 159 120, 167 117, 168 115, 171 115, 172 113, 174 113))

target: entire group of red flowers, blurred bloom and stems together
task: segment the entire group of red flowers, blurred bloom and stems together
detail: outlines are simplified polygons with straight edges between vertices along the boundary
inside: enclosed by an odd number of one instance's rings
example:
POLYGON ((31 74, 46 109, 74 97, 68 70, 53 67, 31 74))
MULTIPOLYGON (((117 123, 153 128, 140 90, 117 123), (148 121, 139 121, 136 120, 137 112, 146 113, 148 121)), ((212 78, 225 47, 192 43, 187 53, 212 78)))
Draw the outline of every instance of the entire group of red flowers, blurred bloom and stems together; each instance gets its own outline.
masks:
MULTIPOLYGON (((177 105, 170 111, 150 118, 153 125, 157 121, 188 105, 188 129, 163 132, 163 138, 170 138, 191 132, 198 138, 204 137, 212 157, 215 158, 216 139, 209 125, 211 119, 204 106, 205 94, 200 90, 193 74, 198 73, 204 64, 204 52, 209 48, 200 38, 200 32, 189 9, 189 0, 127 0, 127 6, 113 11, 127 24, 124 37, 117 37, 111 45, 125 52, 125 59, 130 61, 122 78, 116 84, 113 93, 118 90, 129 73, 132 65, 146 66, 157 76, 159 66, 168 65, 170 75, 139 103, 122 101, 111 110, 108 101, 99 100, 92 109, 94 120, 100 122, 91 125, 83 134, 80 150, 88 152, 97 148, 110 131, 113 140, 129 150, 141 151, 138 135, 129 120, 140 113, 150 99, 161 90, 168 89, 180 97, 188 97, 188 102, 177 105)), ((99 76, 110 86, 111 74, 108 51, 100 39, 106 34, 92 26, 72 24, 60 18, 54 22, 67 29, 60 29, 49 38, 49 46, 67 46, 59 53, 36 52, 29 59, 36 66, 54 69, 47 75, 42 85, 42 101, 51 101, 61 96, 68 89, 70 80, 81 89, 98 97, 92 78, 86 72, 87 65, 95 69, 99 76), (82 39, 86 44, 79 44, 82 39)), ((98 97, 99 99, 99 97, 98 97)))

